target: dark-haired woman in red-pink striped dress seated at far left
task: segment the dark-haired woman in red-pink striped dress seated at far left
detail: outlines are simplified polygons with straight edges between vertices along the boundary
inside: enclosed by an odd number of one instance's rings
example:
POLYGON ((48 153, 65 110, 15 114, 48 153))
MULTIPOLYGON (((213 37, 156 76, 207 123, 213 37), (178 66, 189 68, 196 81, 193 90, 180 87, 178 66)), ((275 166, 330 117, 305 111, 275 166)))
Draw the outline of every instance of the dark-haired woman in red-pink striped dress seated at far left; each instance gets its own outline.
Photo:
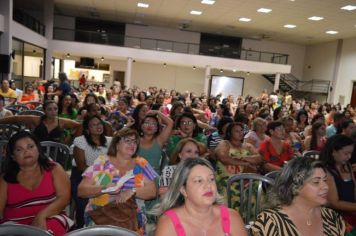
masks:
POLYGON ((45 157, 38 139, 26 131, 10 138, 6 153, 0 177, 0 224, 12 221, 64 235, 73 221, 63 212, 70 200, 63 168, 45 157))

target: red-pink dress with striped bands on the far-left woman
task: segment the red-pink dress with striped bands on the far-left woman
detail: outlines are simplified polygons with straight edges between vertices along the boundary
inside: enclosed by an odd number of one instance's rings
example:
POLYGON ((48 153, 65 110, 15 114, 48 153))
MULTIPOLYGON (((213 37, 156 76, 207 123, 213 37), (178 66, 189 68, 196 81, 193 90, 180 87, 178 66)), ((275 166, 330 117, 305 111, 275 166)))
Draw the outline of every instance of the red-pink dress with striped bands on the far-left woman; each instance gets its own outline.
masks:
MULTIPOLYGON (((7 184, 7 201, 4 218, 0 224, 13 221, 31 225, 35 216, 56 200, 56 190, 52 181, 52 172, 44 171, 41 183, 34 190, 29 190, 20 183, 7 184)), ((73 225, 73 221, 64 212, 46 219, 49 232, 64 235, 73 225)))

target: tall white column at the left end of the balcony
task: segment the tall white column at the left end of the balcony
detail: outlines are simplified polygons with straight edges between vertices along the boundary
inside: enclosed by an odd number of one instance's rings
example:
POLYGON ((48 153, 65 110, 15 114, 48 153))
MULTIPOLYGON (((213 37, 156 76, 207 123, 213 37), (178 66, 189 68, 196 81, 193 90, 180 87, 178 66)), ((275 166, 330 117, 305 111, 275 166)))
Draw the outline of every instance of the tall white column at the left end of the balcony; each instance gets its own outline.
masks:
POLYGON ((44 76, 42 79, 50 80, 52 78, 51 67, 52 67, 52 39, 53 39, 53 18, 54 18, 54 1, 46 0, 44 1, 44 24, 46 27, 46 39, 48 42, 45 63, 44 63, 44 76))

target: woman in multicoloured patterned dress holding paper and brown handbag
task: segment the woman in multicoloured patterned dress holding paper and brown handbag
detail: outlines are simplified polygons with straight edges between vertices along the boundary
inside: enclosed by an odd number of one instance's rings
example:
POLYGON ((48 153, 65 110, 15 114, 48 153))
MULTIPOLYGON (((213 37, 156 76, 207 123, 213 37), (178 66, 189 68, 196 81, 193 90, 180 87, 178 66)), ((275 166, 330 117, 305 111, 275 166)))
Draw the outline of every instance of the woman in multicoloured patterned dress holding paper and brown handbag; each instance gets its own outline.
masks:
MULTIPOLYGON (((158 176, 150 164, 136 156, 139 135, 133 129, 123 128, 113 137, 107 155, 99 156, 83 173, 83 180, 78 187, 78 196, 90 198, 85 209, 84 221, 87 226, 95 225, 89 212, 111 202, 124 203, 132 197, 138 205, 138 232, 143 235, 146 223, 143 200, 156 197, 154 179, 158 176), (128 172, 133 171, 123 186, 113 192, 102 190, 117 184, 128 172)), ((106 223, 107 224, 107 223, 106 223)))

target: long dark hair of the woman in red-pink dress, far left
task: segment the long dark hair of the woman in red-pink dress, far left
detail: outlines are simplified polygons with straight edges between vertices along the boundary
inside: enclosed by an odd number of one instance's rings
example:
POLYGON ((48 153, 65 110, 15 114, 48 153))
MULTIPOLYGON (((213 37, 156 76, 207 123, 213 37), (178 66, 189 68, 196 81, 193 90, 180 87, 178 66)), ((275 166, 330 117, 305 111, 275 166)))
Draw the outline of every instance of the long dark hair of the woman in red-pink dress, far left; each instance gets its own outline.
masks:
POLYGON ((4 161, 4 180, 8 183, 18 183, 17 174, 20 171, 20 166, 14 160, 14 150, 17 141, 23 138, 30 138, 35 143, 39 153, 38 164, 42 170, 51 170, 55 166, 55 164, 43 154, 40 141, 35 135, 28 131, 19 131, 10 138, 6 147, 6 158, 4 161))

